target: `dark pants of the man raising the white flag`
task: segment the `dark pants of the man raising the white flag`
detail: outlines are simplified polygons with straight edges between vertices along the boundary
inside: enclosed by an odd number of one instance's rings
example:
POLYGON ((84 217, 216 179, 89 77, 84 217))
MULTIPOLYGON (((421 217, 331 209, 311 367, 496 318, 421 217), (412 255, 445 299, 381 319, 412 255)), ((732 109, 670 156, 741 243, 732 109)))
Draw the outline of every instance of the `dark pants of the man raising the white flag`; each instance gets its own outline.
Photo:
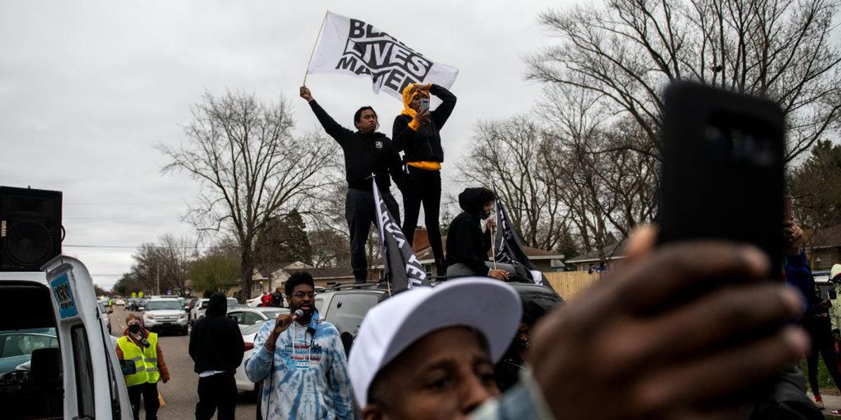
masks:
MULTIPOLYGON (((394 218, 394 223, 399 226, 400 209, 397 201, 389 191, 380 190, 380 194, 383 195, 383 202, 385 202, 385 207, 388 207, 391 217, 394 218)), ((377 223, 377 207, 373 202, 373 192, 370 191, 348 188, 346 198, 345 217, 351 233, 351 268, 357 281, 365 281, 368 279, 365 243, 368 242, 371 223, 377 223)))

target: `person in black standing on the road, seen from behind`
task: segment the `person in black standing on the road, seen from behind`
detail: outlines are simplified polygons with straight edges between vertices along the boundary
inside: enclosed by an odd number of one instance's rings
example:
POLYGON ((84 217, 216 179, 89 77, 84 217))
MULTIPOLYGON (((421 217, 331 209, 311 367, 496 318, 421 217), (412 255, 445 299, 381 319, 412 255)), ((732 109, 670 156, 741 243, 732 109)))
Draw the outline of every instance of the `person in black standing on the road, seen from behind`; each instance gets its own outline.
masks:
POLYGON ((219 409, 219 418, 234 418, 236 408, 236 381, 234 373, 242 363, 246 344, 242 341, 239 326, 226 317, 228 299, 220 292, 208 302, 204 318, 198 320, 190 333, 190 357, 198 373, 198 403, 196 419, 213 417, 219 409))

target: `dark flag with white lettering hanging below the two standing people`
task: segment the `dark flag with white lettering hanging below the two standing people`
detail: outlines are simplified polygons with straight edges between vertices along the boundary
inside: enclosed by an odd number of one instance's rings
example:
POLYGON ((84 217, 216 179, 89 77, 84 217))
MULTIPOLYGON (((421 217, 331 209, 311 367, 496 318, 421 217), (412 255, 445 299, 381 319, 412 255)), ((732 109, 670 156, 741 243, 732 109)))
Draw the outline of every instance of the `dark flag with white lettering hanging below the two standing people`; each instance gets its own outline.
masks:
POLYGON ((377 182, 373 182, 373 199, 377 206, 377 224, 379 237, 383 241, 383 273, 391 282, 392 292, 413 289, 417 286, 429 286, 426 270, 417 259, 412 247, 406 241, 398 223, 391 217, 389 207, 385 207, 383 197, 379 195, 377 182))

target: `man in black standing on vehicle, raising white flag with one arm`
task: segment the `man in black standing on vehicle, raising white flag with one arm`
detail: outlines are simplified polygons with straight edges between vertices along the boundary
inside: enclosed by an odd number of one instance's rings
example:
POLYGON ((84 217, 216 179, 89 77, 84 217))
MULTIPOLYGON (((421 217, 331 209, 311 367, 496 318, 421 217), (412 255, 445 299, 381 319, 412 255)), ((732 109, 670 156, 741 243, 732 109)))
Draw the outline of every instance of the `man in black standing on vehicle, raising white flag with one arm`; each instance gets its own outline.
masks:
MULTIPOLYGON (((371 223, 377 219, 376 203, 373 200, 371 175, 377 180, 377 188, 388 207, 391 217, 400 224, 399 207, 389 188, 389 173, 398 188, 402 186, 403 164, 391 140, 378 133, 377 113, 371 107, 362 107, 353 116, 357 131, 342 127, 315 102, 309 88, 301 87, 300 96, 309 102, 325 132, 341 146, 345 154, 345 177, 347 197, 345 217, 351 234, 351 267, 357 282, 368 279, 368 260, 365 258, 365 242, 371 223)), ((400 188, 402 190, 402 188, 400 188)))

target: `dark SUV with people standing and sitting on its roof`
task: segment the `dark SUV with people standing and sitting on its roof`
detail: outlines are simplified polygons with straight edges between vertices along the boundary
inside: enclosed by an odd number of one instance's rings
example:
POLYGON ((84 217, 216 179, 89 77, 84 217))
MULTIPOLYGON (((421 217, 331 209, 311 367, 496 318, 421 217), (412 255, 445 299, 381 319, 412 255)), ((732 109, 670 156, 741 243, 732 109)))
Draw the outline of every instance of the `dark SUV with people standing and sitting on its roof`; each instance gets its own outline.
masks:
MULTIPOLYGON (((458 281, 458 280, 456 280, 458 281)), ((563 303, 563 298, 552 289, 534 283, 509 282, 520 295, 523 302, 535 302, 547 311, 563 303)), ((350 283, 334 286, 315 295, 315 308, 322 319, 333 324, 339 330, 341 344, 348 354, 359 333, 362 318, 374 305, 389 297, 385 282, 350 283)))

